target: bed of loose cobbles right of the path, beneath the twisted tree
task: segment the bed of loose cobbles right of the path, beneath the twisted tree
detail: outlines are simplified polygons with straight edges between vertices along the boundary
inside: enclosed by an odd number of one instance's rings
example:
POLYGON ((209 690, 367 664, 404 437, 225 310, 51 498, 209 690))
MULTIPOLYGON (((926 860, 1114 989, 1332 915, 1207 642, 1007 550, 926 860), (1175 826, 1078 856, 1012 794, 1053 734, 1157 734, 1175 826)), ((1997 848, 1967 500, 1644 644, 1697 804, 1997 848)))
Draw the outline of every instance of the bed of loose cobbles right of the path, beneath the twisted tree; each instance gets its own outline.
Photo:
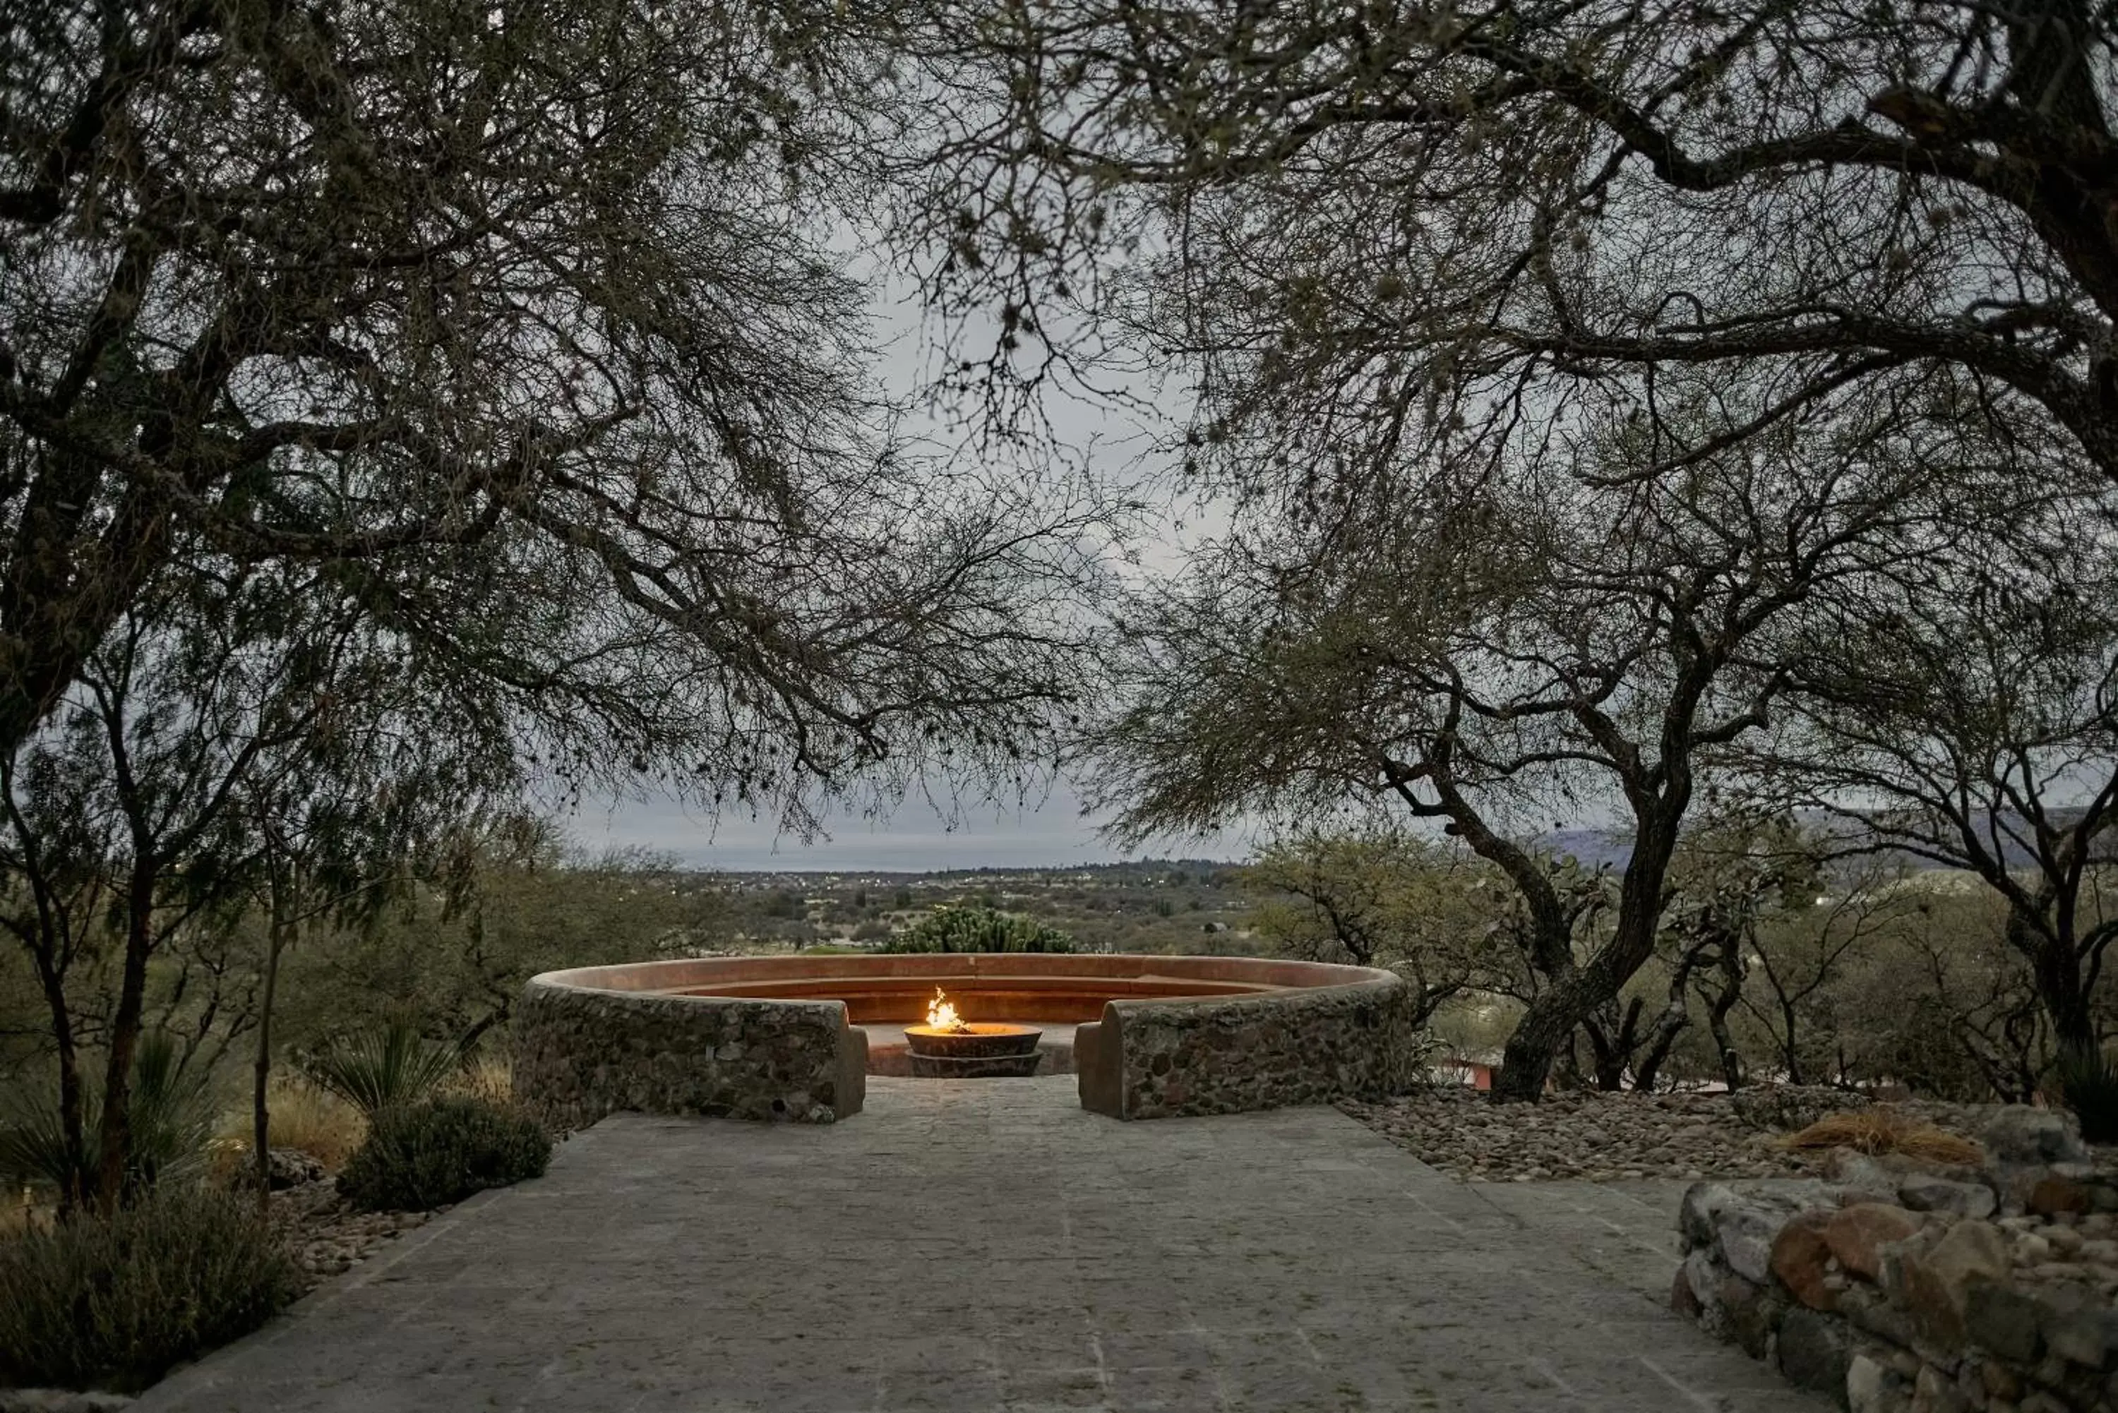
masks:
MULTIPOLYGON (((1847 1108, 1857 1104, 1847 1097, 1847 1108)), ((1341 1108, 1470 1182, 1798 1178, 1824 1159, 1779 1146, 1781 1133, 1741 1119, 1724 1093, 1565 1091, 1540 1104, 1493 1104, 1472 1089, 1436 1087, 1341 1108)), ((1934 1102, 1898 1108, 1966 1135, 1976 1135, 1985 1112, 1934 1102)))

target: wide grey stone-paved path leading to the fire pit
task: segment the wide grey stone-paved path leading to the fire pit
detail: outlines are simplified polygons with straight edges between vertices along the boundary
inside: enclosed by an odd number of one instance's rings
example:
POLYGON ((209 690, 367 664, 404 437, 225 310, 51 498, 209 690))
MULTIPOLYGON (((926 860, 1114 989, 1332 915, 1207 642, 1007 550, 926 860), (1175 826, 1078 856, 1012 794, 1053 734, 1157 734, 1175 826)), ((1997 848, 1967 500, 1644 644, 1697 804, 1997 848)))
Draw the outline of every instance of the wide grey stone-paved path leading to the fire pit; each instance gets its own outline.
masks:
POLYGON ((608 1119, 136 1413, 1819 1413, 1661 1307, 1673 1216, 1324 1108, 870 1080, 834 1127, 608 1119))

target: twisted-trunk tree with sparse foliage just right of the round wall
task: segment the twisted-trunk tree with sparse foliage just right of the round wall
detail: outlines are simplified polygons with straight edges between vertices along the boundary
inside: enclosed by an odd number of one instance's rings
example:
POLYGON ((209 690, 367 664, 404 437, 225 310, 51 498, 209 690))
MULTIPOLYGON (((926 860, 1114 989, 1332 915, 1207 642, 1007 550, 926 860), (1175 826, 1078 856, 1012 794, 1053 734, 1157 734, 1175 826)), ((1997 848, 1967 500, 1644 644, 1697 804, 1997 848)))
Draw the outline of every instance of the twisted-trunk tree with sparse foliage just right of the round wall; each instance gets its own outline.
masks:
POLYGON ((1345 792, 1444 820, 1521 892, 1542 981, 1497 1097, 1536 1097, 1574 1030, 1654 955, 1716 752, 1769 722, 1783 633, 1821 585, 1893 574, 1944 506, 1862 439, 1756 439, 1688 477, 1622 475, 1620 424, 1557 458, 1415 468, 1269 504, 1129 627, 1099 758, 1135 833, 1345 792), (1771 447, 1771 451, 1769 451, 1771 447), (1605 941, 1527 820, 1608 805, 1631 843, 1605 941))

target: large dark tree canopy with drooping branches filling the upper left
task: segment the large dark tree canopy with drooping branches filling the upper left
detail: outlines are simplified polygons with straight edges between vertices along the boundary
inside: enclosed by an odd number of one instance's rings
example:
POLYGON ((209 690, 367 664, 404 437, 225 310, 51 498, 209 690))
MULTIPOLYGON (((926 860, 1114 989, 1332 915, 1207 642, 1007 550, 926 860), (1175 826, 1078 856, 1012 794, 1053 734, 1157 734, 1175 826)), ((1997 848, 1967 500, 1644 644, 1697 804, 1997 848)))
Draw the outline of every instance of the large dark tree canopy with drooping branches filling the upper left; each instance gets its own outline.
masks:
POLYGON ((282 561, 542 769, 1008 771, 1089 517, 892 432, 837 21, 0 0, 0 754, 159 578, 282 561))

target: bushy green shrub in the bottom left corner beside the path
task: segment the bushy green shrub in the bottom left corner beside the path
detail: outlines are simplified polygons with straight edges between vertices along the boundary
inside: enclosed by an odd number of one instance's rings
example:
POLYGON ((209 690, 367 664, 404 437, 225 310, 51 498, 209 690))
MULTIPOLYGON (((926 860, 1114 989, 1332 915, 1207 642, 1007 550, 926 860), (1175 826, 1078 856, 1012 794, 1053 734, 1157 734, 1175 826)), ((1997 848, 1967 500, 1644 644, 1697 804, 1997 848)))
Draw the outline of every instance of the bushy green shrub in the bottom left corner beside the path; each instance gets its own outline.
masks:
POLYGON ((0 1241, 0 1385, 140 1390, 265 1324, 299 1271, 248 1197, 163 1184, 0 1241))

